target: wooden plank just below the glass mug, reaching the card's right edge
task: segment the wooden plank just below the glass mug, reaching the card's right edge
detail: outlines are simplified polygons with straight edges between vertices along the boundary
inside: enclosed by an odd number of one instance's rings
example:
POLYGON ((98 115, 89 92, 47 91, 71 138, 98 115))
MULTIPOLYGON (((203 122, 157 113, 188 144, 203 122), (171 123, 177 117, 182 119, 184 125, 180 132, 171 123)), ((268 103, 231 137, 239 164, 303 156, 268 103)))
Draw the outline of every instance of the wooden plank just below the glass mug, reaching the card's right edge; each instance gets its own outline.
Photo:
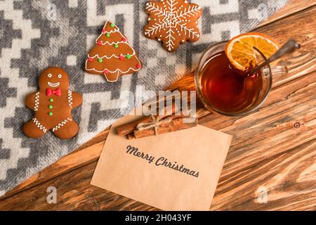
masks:
POLYGON ((261 110, 252 115, 202 118, 207 127, 234 136, 222 176, 315 139, 315 86, 316 72, 272 90, 261 110))

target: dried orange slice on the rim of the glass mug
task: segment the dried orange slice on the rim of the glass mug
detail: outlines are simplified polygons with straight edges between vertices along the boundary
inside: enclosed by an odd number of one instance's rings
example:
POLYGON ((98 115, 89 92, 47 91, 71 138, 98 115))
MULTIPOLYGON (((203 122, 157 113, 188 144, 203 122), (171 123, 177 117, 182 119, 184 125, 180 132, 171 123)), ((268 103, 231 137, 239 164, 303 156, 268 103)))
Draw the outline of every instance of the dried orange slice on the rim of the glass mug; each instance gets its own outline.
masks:
POLYGON ((254 47, 267 58, 279 49, 279 46, 272 38, 265 34, 251 32, 231 39, 226 45, 225 53, 235 68, 244 71, 258 65, 257 58, 259 53, 254 47))

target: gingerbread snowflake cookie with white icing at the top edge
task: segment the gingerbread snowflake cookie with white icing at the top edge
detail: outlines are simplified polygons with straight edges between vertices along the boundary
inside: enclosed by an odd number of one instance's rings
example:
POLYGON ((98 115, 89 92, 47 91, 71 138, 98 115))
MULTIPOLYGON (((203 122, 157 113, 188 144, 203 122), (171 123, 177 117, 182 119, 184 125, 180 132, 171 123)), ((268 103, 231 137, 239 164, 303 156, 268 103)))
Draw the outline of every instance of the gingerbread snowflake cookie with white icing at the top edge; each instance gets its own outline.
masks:
POLYGON ((144 27, 145 36, 162 41, 164 49, 176 51, 186 41, 198 41, 197 28, 202 8, 185 0, 149 1, 146 4, 149 15, 144 27))

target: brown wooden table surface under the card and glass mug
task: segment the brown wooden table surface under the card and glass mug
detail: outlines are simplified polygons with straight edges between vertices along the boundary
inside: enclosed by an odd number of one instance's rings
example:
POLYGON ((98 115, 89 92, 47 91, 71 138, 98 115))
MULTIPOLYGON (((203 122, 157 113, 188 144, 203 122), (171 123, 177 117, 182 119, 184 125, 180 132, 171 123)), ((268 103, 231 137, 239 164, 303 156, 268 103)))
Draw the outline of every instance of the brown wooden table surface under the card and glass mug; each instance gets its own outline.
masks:
MULTIPOLYGON (((280 44, 302 48, 280 63, 261 110, 241 118, 199 108, 199 123, 234 136, 210 210, 316 210, 316 2, 290 1, 259 25, 280 44), (258 203, 258 188, 268 202, 258 203)), ((192 75, 170 89, 194 89, 192 75)), ((108 130, 20 184, 0 199, 0 210, 157 210, 90 185, 108 130), (57 188, 48 204, 46 189, 57 188)), ((109 178, 110 179, 110 178, 109 178)))

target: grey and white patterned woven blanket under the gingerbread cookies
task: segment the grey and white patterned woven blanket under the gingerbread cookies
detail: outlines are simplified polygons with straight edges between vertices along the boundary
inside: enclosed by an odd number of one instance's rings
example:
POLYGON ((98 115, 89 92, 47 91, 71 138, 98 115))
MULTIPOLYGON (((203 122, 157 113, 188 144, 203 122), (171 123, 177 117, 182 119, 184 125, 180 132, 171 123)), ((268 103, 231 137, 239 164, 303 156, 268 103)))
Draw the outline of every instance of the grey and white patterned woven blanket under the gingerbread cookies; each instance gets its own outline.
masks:
POLYGON ((192 70, 210 44, 250 30, 287 0, 192 2, 202 6, 202 37, 168 53, 143 35, 145 0, 0 0, 0 195, 122 117, 131 107, 126 105, 130 93, 150 98, 192 70), (115 83, 83 70, 105 20, 120 27, 143 61, 140 72, 115 83), (73 111, 79 134, 69 141, 51 133, 41 139, 22 133, 22 124, 33 114, 24 105, 25 96, 37 90, 38 76, 49 66, 64 68, 71 88, 84 97, 73 111))

